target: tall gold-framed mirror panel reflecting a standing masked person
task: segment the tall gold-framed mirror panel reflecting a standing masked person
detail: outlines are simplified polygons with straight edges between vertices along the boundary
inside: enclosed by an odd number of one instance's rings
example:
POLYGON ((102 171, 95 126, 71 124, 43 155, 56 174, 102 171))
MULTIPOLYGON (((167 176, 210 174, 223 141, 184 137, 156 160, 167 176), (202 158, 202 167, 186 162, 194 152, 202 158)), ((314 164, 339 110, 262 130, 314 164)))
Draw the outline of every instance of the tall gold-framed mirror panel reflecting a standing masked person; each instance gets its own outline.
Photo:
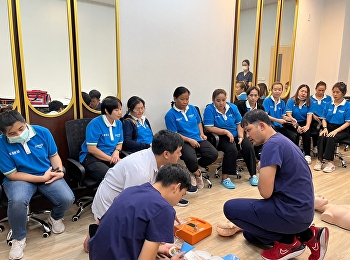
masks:
POLYGON ((236 55, 236 77, 239 72, 242 72, 242 61, 249 60, 250 71, 254 67, 254 49, 255 49, 255 34, 256 34, 256 14, 258 0, 239 1, 239 26, 238 26, 238 41, 237 41, 237 55, 236 55))

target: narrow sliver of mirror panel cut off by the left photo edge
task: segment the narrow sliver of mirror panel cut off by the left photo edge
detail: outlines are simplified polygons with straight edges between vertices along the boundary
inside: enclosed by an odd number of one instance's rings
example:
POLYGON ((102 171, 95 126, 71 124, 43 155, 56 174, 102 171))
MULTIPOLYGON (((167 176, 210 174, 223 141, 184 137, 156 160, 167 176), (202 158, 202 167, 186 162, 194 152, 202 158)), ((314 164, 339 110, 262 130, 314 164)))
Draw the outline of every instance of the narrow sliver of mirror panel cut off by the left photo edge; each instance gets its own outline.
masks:
POLYGON ((7 1, 0 1, 0 105, 15 100, 15 82, 12 65, 10 24, 7 1))

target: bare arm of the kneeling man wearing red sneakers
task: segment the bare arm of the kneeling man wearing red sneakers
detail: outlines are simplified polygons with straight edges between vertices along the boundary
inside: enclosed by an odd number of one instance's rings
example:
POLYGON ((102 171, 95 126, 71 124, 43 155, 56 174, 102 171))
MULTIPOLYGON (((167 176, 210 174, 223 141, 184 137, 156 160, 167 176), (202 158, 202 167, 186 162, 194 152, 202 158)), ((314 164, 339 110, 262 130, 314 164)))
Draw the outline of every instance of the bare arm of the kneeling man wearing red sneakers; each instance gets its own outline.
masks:
POLYGON ((261 197, 268 199, 271 197, 275 184, 277 165, 270 165, 260 169, 258 189, 261 197))

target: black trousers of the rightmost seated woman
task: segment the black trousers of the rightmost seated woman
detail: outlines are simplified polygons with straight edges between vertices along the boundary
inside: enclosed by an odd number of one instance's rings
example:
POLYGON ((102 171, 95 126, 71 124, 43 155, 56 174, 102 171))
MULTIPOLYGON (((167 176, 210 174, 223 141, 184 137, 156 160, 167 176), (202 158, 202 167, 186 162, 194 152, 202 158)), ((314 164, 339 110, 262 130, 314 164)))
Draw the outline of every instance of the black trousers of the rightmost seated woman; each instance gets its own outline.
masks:
MULTIPOLYGON (((341 125, 335 125, 327 122, 328 133, 337 129, 341 125)), ((341 131, 337 133, 334 137, 320 136, 318 138, 317 149, 318 158, 320 160, 326 159, 328 161, 334 160, 334 151, 337 143, 349 136, 348 130, 341 131)))

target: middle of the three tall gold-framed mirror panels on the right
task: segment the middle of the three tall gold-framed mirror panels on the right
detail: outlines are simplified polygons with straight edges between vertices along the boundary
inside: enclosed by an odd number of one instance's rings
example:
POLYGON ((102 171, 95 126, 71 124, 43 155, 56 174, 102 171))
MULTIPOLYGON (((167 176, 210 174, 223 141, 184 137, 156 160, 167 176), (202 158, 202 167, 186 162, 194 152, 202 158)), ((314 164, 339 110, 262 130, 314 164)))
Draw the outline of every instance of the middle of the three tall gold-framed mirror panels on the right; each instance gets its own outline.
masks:
POLYGON ((278 0, 264 1, 262 10, 262 24, 259 41, 259 64, 257 83, 265 83, 268 88, 274 82, 273 55, 276 52, 276 17, 278 0))

